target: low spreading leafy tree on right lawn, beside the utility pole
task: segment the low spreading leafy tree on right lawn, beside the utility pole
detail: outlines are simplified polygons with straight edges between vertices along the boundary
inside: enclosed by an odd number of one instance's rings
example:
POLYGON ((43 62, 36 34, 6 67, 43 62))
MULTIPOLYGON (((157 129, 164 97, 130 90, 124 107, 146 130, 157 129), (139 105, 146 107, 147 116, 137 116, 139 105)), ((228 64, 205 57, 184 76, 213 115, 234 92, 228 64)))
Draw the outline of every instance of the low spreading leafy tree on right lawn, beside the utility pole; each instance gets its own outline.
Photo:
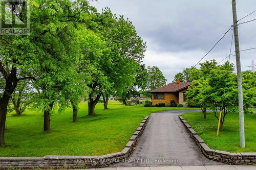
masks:
MULTIPOLYGON (((215 110, 215 117, 220 119, 221 129, 227 114, 238 110, 237 75, 233 71, 233 64, 229 62, 217 66, 215 60, 206 61, 201 64, 200 69, 191 71, 195 80, 186 92, 186 95, 205 111, 206 108, 215 110), (217 111, 222 112, 221 117, 218 117, 217 111)), ((255 96, 254 79, 252 77, 253 74, 243 72, 245 111, 255 101, 253 97, 255 96), (247 78, 252 79, 246 80, 247 78)), ((206 117, 206 112, 204 116, 206 117)))

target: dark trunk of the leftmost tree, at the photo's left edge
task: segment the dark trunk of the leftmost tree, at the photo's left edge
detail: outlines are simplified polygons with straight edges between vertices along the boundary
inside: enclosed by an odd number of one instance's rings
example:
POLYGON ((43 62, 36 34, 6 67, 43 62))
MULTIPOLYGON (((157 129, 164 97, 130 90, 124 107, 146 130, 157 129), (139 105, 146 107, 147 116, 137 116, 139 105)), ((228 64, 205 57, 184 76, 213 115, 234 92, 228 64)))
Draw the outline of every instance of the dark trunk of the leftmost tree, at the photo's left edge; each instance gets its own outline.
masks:
POLYGON ((0 146, 5 145, 5 123, 8 102, 0 100, 0 146))

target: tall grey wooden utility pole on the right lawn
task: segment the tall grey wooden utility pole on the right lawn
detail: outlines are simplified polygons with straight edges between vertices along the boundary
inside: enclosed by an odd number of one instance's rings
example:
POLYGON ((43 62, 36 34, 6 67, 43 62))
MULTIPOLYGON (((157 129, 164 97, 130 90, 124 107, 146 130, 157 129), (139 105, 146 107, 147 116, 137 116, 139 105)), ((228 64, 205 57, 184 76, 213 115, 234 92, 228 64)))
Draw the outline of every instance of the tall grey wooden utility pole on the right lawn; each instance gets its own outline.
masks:
POLYGON ((236 60, 237 60, 237 74, 238 74, 240 147, 245 148, 243 85, 242 85, 241 62, 240 62, 236 0, 232 0, 232 10, 233 10, 234 43, 236 45, 236 60))

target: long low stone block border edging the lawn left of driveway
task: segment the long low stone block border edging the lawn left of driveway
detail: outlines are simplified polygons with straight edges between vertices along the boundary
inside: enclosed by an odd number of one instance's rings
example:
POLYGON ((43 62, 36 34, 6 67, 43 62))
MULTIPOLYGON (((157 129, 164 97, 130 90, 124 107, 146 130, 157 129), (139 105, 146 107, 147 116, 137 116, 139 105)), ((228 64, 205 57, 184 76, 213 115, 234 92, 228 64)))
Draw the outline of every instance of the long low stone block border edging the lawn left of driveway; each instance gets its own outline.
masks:
POLYGON ((45 156, 37 157, 0 157, 0 169, 8 168, 86 168, 104 167, 113 163, 121 162, 129 157, 133 151, 139 136, 146 127, 150 116, 146 116, 137 130, 134 132, 130 141, 125 145, 121 152, 101 156, 45 156))

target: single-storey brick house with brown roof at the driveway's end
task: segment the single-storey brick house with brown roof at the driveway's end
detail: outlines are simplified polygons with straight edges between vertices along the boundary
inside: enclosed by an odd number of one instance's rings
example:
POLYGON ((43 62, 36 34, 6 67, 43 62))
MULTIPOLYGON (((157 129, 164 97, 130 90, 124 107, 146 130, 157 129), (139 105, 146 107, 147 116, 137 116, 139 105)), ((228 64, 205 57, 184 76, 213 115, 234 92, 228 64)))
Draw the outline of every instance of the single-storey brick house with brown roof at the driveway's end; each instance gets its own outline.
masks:
POLYGON ((152 93, 151 101, 153 105, 159 103, 165 103, 166 106, 170 105, 170 101, 174 100, 177 104, 186 104, 186 98, 184 92, 191 85, 191 82, 177 82, 167 84, 163 87, 159 87, 150 91, 152 93))

